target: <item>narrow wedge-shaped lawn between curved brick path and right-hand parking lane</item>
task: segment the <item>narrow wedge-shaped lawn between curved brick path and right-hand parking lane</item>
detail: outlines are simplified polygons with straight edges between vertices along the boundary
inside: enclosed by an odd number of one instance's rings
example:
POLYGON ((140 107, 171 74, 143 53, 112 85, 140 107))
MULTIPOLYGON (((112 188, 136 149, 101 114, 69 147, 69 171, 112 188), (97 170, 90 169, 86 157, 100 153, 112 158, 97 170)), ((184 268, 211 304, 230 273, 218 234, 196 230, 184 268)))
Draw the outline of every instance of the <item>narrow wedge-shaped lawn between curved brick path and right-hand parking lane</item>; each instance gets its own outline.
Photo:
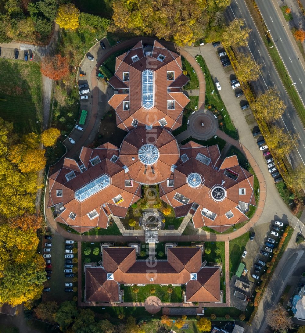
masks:
POLYGON ((222 129, 227 135, 234 139, 238 139, 238 133, 232 123, 229 113, 227 112, 225 105, 219 95, 219 92, 215 86, 215 83, 211 77, 210 71, 207 68, 202 56, 196 56, 197 63, 201 66, 202 72, 204 73, 205 78, 205 105, 206 108, 210 105, 211 108, 218 110, 219 114, 222 117, 222 120, 219 121, 223 123, 222 129), (213 95, 211 93, 214 91, 213 95))

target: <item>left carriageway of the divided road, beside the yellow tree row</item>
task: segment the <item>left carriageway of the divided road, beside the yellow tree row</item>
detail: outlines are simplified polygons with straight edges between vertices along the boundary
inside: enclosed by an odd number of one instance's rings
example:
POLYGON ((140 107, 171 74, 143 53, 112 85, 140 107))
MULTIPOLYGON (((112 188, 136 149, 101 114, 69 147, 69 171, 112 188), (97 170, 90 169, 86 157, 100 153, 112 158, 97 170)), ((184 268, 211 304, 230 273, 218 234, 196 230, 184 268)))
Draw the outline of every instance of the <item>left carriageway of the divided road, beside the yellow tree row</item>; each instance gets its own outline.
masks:
MULTIPOLYGON (((267 87, 276 87, 279 96, 287 106, 285 113, 277 122, 277 125, 283 127, 291 134, 298 135, 299 145, 290 154, 291 164, 293 167, 302 163, 305 165, 305 130, 269 57, 268 51, 256 29, 255 23, 252 20, 244 0, 232 1, 231 6, 226 10, 226 14, 230 20, 233 20, 235 17, 244 19, 246 26, 252 30, 248 47, 240 47, 239 49, 241 52, 248 52, 250 50, 255 61, 262 64, 262 75, 253 83, 253 86, 255 89, 262 92, 266 91, 267 87)), ((293 89, 293 87, 290 89, 293 89)))

